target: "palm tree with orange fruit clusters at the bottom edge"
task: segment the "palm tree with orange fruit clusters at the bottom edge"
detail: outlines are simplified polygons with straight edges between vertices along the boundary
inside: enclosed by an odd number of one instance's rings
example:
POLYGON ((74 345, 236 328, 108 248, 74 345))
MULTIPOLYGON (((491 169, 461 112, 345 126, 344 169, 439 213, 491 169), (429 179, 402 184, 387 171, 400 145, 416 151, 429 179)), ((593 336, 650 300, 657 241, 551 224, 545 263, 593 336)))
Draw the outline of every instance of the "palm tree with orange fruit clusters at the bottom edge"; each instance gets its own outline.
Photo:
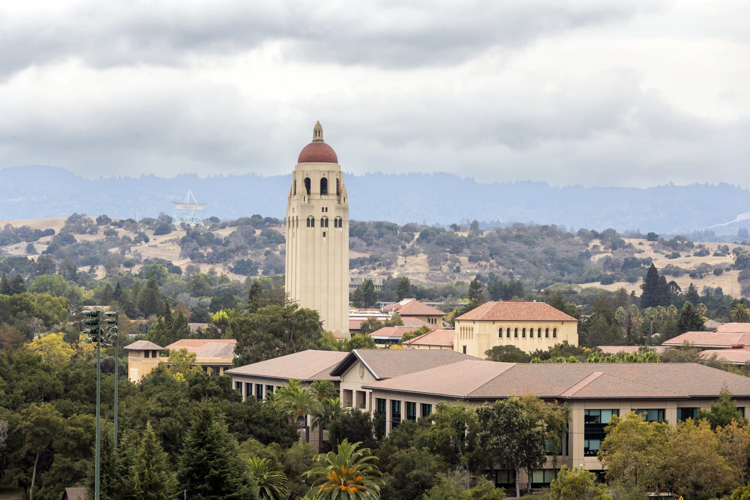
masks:
POLYGON ((361 442, 350 443, 344 439, 337 450, 320 455, 320 466, 303 475, 313 479, 317 499, 380 500, 380 470, 369 448, 357 448, 361 442))

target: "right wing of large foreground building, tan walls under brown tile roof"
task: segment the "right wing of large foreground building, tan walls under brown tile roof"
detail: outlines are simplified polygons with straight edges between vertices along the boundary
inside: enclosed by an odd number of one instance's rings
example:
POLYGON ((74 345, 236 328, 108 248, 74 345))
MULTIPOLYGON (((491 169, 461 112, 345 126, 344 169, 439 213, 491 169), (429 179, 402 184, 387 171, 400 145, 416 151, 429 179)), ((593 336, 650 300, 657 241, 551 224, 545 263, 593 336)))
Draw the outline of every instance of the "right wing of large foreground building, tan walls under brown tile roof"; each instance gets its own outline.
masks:
MULTIPOLYGON (((548 483, 562 465, 583 464, 603 474, 596 454, 612 415, 636 411, 646 420, 674 424, 696 418, 701 409, 710 410, 724 388, 745 414, 750 408, 750 379, 700 364, 514 364, 467 359, 362 385, 362 391, 370 393, 374 412, 383 415, 386 433, 404 420, 428 417, 442 402, 481 406, 535 394, 567 404, 568 436, 556 466, 550 458, 544 469, 534 472, 535 487, 548 483)), ((498 486, 511 487, 512 475, 500 471, 498 486)), ((520 481, 526 483, 525 473, 520 481)))

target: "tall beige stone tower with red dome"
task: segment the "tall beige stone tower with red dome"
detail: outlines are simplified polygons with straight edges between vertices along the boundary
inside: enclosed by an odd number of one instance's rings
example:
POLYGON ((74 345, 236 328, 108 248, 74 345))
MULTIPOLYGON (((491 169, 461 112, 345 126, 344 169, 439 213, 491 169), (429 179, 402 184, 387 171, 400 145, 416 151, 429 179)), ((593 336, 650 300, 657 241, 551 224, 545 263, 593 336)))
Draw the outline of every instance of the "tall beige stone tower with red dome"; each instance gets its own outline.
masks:
POLYGON ((291 301, 320 313, 323 328, 349 337, 347 188, 320 121, 292 173, 284 285, 291 301))

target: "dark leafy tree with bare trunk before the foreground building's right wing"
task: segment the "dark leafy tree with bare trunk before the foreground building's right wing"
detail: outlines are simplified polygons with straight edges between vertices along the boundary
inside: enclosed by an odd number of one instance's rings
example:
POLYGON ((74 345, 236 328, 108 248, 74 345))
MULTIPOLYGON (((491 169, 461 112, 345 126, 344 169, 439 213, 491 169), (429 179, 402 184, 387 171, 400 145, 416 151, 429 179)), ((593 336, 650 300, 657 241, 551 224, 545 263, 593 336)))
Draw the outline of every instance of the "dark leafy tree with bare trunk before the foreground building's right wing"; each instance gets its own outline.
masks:
MULTIPOLYGON (((546 460, 544 443, 547 424, 533 418, 534 412, 518 397, 498 400, 491 406, 485 403, 477 409, 479 431, 477 441, 487 454, 487 466, 501 466, 515 472, 526 470, 531 483, 532 471, 541 469, 546 460)), ((520 496, 520 481, 516 481, 516 496, 520 496)))

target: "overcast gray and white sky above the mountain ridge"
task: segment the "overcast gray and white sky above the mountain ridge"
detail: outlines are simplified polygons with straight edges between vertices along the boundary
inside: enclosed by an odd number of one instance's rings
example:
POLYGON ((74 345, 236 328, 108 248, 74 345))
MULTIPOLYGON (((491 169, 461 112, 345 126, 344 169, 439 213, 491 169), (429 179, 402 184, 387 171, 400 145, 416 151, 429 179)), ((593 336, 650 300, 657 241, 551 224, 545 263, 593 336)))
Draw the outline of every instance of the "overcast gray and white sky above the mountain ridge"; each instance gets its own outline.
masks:
POLYGON ((750 2, 5 1, 0 168, 750 187, 750 2))

